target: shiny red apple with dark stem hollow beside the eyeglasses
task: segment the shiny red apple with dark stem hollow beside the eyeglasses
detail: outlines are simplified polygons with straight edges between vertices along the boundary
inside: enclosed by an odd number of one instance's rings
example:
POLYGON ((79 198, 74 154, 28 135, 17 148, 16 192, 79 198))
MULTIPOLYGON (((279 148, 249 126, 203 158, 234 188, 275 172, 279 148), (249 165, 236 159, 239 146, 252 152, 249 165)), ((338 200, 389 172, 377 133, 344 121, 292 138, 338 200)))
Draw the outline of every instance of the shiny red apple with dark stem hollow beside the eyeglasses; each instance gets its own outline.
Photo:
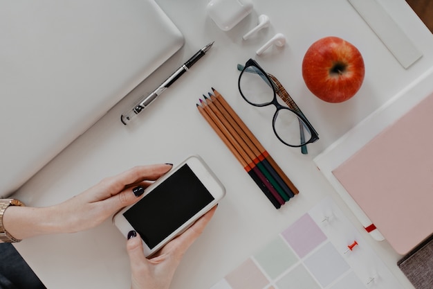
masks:
POLYGON ((302 61, 306 87, 318 98, 341 103, 356 94, 364 80, 362 55, 339 37, 324 37, 308 48, 302 61))

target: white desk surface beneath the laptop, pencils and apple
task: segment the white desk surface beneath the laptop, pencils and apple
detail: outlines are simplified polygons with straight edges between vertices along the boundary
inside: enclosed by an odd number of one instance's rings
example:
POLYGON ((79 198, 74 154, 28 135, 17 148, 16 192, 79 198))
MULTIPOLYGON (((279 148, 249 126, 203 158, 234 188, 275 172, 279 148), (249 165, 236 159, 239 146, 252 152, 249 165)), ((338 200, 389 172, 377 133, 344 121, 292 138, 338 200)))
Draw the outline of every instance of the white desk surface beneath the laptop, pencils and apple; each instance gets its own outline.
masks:
MULTIPOLYGON (((376 110, 433 64, 433 35, 404 0, 378 0, 423 52, 403 69, 346 0, 255 0, 252 14, 232 30, 219 30, 205 14, 207 1, 158 0, 185 35, 186 44, 142 85, 113 107, 98 123, 27 182, 15 195, 29 205, 62 202, 103 177, 138 164, 178 163, 199 154, 227 189, 203 236, 185 255, 172 288, 203 289, 236 268, 303 213, 332 195, 360 231, 362 228, 315 168, 313 157, 376 110), (248 41, 242 35, 266 14, 271 26, 248 41), (275 33, 284 33, 284 49, 255 51, 275 33), (345 103, 329 104, 315 98, 302 80, 301 63, 308 46, 320 37, 335 35, 355 44, 366 66, 365 82, 345 103), (199 48, 214 40, 212 49, 151 107, 125 127, 120 114, 154 89, 199 48), (320 134, 308 145, 310 154, 280 143, 271 128, 273 111, 255 109, 239 95, 237 63, 255 58, 283 83, 320 134), (228 148, 196 110, 196 102, 211 87, 218 89, 250 127, 300 194, 276 210, 245 173, 228 148)), ((154 45, 154 44, 152 44, 154 45)), ((377 254, 404 288, 412 288, 398 270, 400 256, 389 244, 376 242, 362 231, 377 254)), ((110 220, 77 234, 39 236, 16 247, 48 288, 128 288, 129 259, 125 237, 110 220)))

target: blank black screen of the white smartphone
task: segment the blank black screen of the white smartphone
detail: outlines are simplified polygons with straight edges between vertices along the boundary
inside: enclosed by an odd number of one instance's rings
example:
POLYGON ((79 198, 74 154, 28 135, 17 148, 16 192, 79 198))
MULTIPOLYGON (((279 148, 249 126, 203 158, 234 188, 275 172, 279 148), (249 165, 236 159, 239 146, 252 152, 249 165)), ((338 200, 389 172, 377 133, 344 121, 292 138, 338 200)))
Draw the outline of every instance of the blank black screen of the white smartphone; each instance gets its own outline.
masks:
POLYGON ((214 197, 185 164, 123 213, 152 249, 214 197))

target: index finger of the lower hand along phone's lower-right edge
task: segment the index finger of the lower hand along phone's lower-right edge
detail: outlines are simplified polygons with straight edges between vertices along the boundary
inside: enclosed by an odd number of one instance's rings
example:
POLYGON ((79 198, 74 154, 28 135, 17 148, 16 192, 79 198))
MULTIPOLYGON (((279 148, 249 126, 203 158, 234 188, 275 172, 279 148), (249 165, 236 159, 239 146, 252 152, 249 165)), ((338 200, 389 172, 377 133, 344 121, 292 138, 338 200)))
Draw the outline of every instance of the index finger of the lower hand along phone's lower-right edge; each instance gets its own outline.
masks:
POLYGON ((196 220, 183 234, 174 239, 176 242, 176 254, 178 254, 178 256, 183 256, 192 243, 203 233, 206 225, 208 225, 208 222, 212 219, 212 216, 214 216, 216 207, 217 206, 210 209, 208 213, 205 213, 199 220, 196 220))

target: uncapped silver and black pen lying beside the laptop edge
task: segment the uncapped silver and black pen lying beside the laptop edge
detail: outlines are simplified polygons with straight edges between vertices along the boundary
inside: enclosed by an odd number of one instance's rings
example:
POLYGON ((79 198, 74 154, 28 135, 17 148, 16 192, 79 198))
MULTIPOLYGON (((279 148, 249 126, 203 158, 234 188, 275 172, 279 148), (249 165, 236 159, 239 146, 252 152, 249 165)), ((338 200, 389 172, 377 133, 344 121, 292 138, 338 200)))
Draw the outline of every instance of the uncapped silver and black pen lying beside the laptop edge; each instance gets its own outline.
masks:
POLYGON ((152 102, 154 102, 154 100, 160 94, 162 94, 163 91, 167 89, 167 87, 172 85, 173 82, 178 80, 178 78, 180 78, 183 75, 183 73, 185 73, 188 69, 190 69, 190 67, 192 67, 194 63, 196 63, 200 58, 202 58, 203 55, 205 55, 206 51, 210 49, 212 44, 214 44, 214 42, 210 42, 210 44, 200 49, 199 52, 194 54, 192 58, 187 60, 187 62, 185 62, 176 71, 174 71, 174 73, 172 73, 171 76, 169 76, 166 80, 164 80, 164 82, 161 83, 161 85, 158 86, 158 88, 156 88, 151 94, 149 94, 145 98, 142 98, 142 100, 140 100, 139 103, 134 105, 134 107, 131 110, 129 110, 129 112, 122 114, 122 116, 120 116, 120 121, 122 121, 124 125, 127 125, 133 119, 134 116, 136 116, 137 114, 145 110, 145 108, 147 108, 152 102))

